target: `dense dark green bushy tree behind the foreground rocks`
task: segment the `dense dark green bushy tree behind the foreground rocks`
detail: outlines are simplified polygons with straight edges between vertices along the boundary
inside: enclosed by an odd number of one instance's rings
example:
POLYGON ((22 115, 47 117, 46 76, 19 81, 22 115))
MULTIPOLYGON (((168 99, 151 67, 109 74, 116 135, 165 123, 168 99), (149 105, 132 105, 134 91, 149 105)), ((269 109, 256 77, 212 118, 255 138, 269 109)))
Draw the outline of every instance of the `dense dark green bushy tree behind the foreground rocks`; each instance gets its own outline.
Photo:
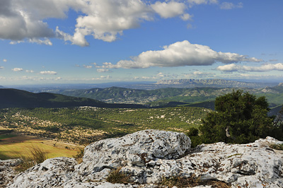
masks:
POLYGON ((274 117, 267 116, 265 97, 233 90, 216 98, 215 110, 202 120, 200 131, 204 143, 249 143, 272 132, 274 117))

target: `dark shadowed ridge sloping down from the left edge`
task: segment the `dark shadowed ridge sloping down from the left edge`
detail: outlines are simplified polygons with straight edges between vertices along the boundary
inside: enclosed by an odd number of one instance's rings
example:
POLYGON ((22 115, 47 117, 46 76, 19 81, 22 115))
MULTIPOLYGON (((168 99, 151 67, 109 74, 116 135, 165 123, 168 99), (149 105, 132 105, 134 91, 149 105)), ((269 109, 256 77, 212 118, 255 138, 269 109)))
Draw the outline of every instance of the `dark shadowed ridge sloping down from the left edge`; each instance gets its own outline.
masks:
POLYGON ((108 104, 90 98, 70 97, 54 93, 30 93, 25 90, 0 89, 0 108, 8 107, 144 107, 142 105, 108 104))

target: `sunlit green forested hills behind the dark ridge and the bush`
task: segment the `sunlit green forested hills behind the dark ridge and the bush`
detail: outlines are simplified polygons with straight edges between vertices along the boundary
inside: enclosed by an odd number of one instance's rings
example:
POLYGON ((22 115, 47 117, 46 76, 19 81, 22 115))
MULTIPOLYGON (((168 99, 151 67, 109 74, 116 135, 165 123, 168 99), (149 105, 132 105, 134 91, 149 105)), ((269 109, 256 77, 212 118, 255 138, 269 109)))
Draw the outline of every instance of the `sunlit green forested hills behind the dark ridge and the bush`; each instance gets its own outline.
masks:
MULTIPOLYGON (((212 101, 219 95, 231 93, 234 88, 160 88, 156 90, 139 90, 129 88, 92 88, 86 90, 50 90, 50 93, 92 98, 103 102, 143 104, 148 106, 164 106, 168 102, 196 103, 212 101)), ((266 95, 272 107, 283 103, 283 85, 275 87, 236 88, 255 95, 266 95), (273 103, 273 104, 272 104, 273 103)), ((185 104, 183 104, 185 105, 185 104)))

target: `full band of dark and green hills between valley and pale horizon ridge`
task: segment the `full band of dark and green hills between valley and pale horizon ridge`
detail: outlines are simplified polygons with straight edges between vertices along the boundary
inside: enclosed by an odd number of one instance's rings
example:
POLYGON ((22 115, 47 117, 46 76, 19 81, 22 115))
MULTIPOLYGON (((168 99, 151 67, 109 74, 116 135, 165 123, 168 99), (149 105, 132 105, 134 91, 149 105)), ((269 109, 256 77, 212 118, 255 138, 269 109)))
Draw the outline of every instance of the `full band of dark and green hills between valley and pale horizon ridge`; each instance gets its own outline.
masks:
MULTIPOLYGON (((255 93, 255 95, 258 96, 266 96, 267 100, 270 102, 270 115, 277 114, 277 112, 282 109, 283 84, 258 90, 244 89, 250 93, 255 93)), ((79 106, 109 108, 160 108, 185 105, 190 107, 204 107, 214 110, 214 99, 219 95, 224 95, 224 93, 231 93, 232 90, 233 88, 164 88, 157 90, 134 90, 111 87, 94 88, 90 90, 62 90, 60 91, 61 93, 64 93, 64 95, 62 95, 57 93, 31 93, 25 90, 0 88, 0 108, 79 106), (102 102, 100 100, 107 102, 102 102), (129 102, 132 102, 132 104, 129 102)))

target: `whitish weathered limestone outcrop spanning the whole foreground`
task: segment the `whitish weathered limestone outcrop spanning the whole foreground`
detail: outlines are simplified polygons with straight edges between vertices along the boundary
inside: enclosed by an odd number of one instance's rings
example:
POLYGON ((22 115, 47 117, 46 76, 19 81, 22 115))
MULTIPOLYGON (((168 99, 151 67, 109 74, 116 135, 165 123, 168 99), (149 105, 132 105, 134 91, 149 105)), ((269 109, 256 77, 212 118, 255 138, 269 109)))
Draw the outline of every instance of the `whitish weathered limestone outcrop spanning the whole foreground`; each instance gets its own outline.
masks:
MULTIPOLYGON (((85 148, 83 162, 52 158, 17 175, 8 187, 160 187, 170 177, 217 180, 235 188, 283 187, 283 143, 270 137, 248 144, 213 143, 190 148, 185 134, 145 130, 105 139, 85 148), (112 169, 130 184, 105 182, 112 169)), ((213 187, 198 185, 197 187, 213 187)))

